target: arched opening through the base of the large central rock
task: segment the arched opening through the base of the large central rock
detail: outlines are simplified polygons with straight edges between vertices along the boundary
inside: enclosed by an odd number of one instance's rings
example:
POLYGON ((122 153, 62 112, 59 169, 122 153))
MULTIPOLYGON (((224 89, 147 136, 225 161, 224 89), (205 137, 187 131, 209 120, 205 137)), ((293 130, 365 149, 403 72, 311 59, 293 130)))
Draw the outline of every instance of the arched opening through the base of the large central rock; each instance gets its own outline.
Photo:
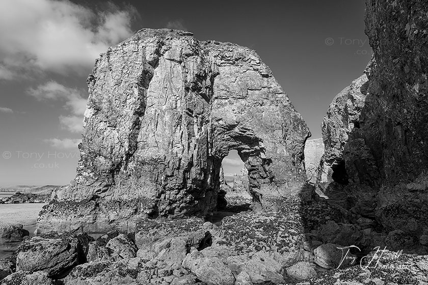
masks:
POLYGON ((238 151, 230 150, 221 161, 217 207, 210 220, 220 224, 224 217, 249 210, 252 202, 248 170, 238 151))

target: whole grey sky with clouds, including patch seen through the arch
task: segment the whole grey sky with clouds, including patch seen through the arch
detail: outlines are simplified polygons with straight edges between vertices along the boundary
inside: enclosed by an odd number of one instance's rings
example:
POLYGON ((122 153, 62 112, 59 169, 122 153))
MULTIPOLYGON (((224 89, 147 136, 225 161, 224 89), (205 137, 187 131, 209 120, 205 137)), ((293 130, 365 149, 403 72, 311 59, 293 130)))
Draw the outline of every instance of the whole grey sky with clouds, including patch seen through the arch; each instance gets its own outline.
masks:
MULTIPOLYGON (((332 99, 358 78, 372 51, 364 0, 2 0, 0 187, 65 185, 79 159, 86 78, 99 53, 144 28, 257 51, 312 137, 332 99)), ((239 173, 236 151, 225 173, 239 173)))

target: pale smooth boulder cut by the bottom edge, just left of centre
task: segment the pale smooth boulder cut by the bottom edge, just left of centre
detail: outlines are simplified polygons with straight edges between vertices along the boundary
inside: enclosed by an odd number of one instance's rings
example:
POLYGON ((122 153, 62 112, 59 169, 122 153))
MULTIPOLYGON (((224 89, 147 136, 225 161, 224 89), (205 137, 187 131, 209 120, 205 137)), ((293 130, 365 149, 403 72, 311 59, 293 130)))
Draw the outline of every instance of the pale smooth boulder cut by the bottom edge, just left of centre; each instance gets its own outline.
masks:
POLYGON ((218 258, 205 258, 199 251, 186 255, 182 266, 208 285, 233 285, 232 271, 218 258))

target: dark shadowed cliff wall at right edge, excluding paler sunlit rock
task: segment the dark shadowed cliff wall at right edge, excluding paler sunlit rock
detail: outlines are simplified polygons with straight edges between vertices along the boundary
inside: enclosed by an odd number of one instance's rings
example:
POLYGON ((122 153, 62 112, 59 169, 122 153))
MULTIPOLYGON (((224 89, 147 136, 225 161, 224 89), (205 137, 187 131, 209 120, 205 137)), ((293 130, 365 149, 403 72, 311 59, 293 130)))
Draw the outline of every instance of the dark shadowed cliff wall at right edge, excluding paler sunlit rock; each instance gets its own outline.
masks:
POLYGON ((367 0, 365 19, 376 62, 363 137, 380 169, 377 218, 415 237, 428 231, 427 13, 421 0, 367 0))

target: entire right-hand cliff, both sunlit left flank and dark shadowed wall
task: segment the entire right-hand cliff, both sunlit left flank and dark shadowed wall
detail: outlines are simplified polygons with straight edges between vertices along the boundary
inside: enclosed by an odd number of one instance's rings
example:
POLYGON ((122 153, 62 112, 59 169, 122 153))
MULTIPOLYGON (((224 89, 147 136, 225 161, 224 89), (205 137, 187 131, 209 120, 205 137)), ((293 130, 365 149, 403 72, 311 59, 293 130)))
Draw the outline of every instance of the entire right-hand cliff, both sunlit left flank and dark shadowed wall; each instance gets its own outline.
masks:
POLYGON ((428 7, 422 0, 366 4, 369 81, 360 77, 355 92, 351 86, 330 106, 319 186, 418 245, 428 233, 428 7))

